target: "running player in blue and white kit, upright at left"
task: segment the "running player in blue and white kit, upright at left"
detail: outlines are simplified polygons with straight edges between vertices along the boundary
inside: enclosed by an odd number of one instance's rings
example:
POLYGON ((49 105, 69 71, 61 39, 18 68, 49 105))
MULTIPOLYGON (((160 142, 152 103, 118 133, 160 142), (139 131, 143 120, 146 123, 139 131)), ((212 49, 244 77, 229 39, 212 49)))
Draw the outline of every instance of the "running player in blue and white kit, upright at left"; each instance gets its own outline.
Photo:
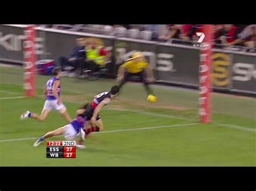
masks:
POLYGON ((21 119, 31 117, 37 119, 38 121, 44 121, 52 109, 58 110, 60 114, 66 119, 66 121, 71 122, 71 118, 66 110, 65 105, 62 103, 60 98, 60 75, 61 68, 53 68, 52 73, 55 75, 51 77, 44 87, 44 95, 46 96, 46 101, 44 103, 44 108, 40 115, 26 111, 21 115, 21 119))

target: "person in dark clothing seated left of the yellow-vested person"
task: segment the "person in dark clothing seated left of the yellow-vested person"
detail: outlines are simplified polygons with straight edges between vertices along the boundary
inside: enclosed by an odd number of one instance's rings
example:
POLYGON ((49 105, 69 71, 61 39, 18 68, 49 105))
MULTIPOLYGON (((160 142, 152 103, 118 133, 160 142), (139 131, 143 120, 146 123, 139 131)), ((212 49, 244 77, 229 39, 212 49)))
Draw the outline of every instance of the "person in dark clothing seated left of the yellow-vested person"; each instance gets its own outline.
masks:
POLYGON ((67 75, 67 73, 65 72, 65 67, 67 66, 73 67, 73 69, 71 69, 72 73, 69 74, 70 77, 74 77, 76 75, 76 69, 80 69, 80 74, 82 73, 82 69, 86 60, 84 37, 78 37, 76 39, 76 43, 77 46, 73 48, 73 51, 69 58, 66 58, 65 56, 60 56, 58 58, 58 65, 62 67, 63 76, 67 75))

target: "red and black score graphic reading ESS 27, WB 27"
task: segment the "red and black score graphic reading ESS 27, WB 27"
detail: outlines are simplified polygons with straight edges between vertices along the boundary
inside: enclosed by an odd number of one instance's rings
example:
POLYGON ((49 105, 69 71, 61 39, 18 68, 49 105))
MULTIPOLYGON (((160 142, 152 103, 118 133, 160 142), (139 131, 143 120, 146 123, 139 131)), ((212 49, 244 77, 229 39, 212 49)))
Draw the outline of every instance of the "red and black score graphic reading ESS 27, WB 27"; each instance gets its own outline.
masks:
POLYGON ((46 158, 76 158, 76 142, 46 141, 46 158))

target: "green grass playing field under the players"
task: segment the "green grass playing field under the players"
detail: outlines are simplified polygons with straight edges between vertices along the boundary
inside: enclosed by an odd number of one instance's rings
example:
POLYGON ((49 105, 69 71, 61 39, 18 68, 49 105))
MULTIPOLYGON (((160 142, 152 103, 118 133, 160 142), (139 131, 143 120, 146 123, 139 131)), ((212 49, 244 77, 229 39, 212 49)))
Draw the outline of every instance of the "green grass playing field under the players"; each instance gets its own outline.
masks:
MULTIPOLYGON (((46 159, 45 132, 65 125, 56 112, 44 122, 21 121, 23 111, 40 113, 49 76, 37 76, 36 98, 23 96, 23 69, 0 67, 0 166, 255 166, 255 98, 212 94, 211 124, 200 124, 198 92, 154 86, 157 103, 146 102, 142 84, 127 83, 100 113, 104 131, 86 139, 76 159, 46 159)), ((75 117, 80 104, 108 90, 114 80, 62 79, 62 95, 75 117)), ((63 140, 62 137, 50 140, 63 140)))

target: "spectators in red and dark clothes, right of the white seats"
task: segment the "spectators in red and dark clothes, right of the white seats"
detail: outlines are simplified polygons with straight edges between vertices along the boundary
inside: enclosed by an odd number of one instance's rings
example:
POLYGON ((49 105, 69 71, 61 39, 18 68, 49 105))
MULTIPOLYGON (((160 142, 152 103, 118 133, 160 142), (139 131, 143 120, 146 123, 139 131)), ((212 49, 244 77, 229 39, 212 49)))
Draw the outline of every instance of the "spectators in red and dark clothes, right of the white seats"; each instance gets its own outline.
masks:
MULTIPOLYGON (((152 25, 150 26, 152 29, 152 25)), ((202 31, 202 25, 164 25, 163 32, 155 32, 154 40, 168 41, 173 40, 172 43, 182 43, 183 41, 197 41, 199 37, 197 32, 202 31)), ((214 46, 228 47, 228 46, 247 46, 248 48, 255 48, 256 43, 256 25, 213 25, 213 40, 214 46)))

